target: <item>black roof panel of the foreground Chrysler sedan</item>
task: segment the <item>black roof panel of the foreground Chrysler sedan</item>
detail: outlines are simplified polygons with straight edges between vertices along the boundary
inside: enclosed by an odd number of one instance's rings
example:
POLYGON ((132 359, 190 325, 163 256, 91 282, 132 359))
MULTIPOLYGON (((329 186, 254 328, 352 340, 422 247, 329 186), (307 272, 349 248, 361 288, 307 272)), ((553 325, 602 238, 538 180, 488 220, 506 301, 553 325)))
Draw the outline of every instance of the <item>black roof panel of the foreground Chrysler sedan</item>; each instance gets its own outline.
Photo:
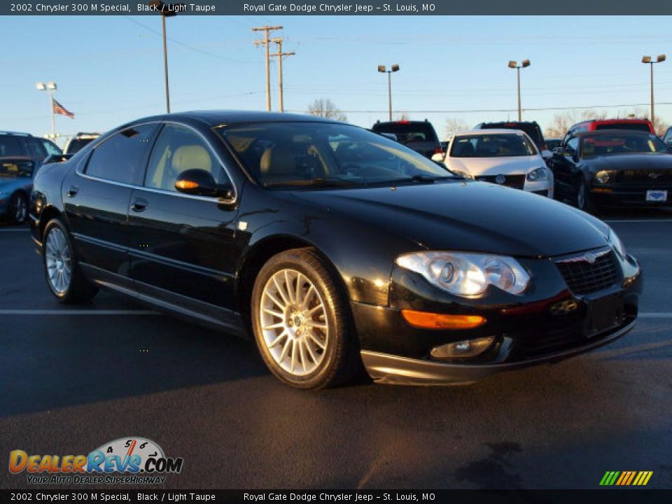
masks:
POLYGON ((309 116, 304 114, 260 112, 260 111, 236 111, 236 110, 212 110, 212 111, 188 111, 160 116, 150 116, 134 120, 127 125, 158 121, 158 120, 199 120, 210 127, 232 125, 237 123, 285 123, 289 121, 315 122, 315 123, 341 123, 341 121, 309 116))

